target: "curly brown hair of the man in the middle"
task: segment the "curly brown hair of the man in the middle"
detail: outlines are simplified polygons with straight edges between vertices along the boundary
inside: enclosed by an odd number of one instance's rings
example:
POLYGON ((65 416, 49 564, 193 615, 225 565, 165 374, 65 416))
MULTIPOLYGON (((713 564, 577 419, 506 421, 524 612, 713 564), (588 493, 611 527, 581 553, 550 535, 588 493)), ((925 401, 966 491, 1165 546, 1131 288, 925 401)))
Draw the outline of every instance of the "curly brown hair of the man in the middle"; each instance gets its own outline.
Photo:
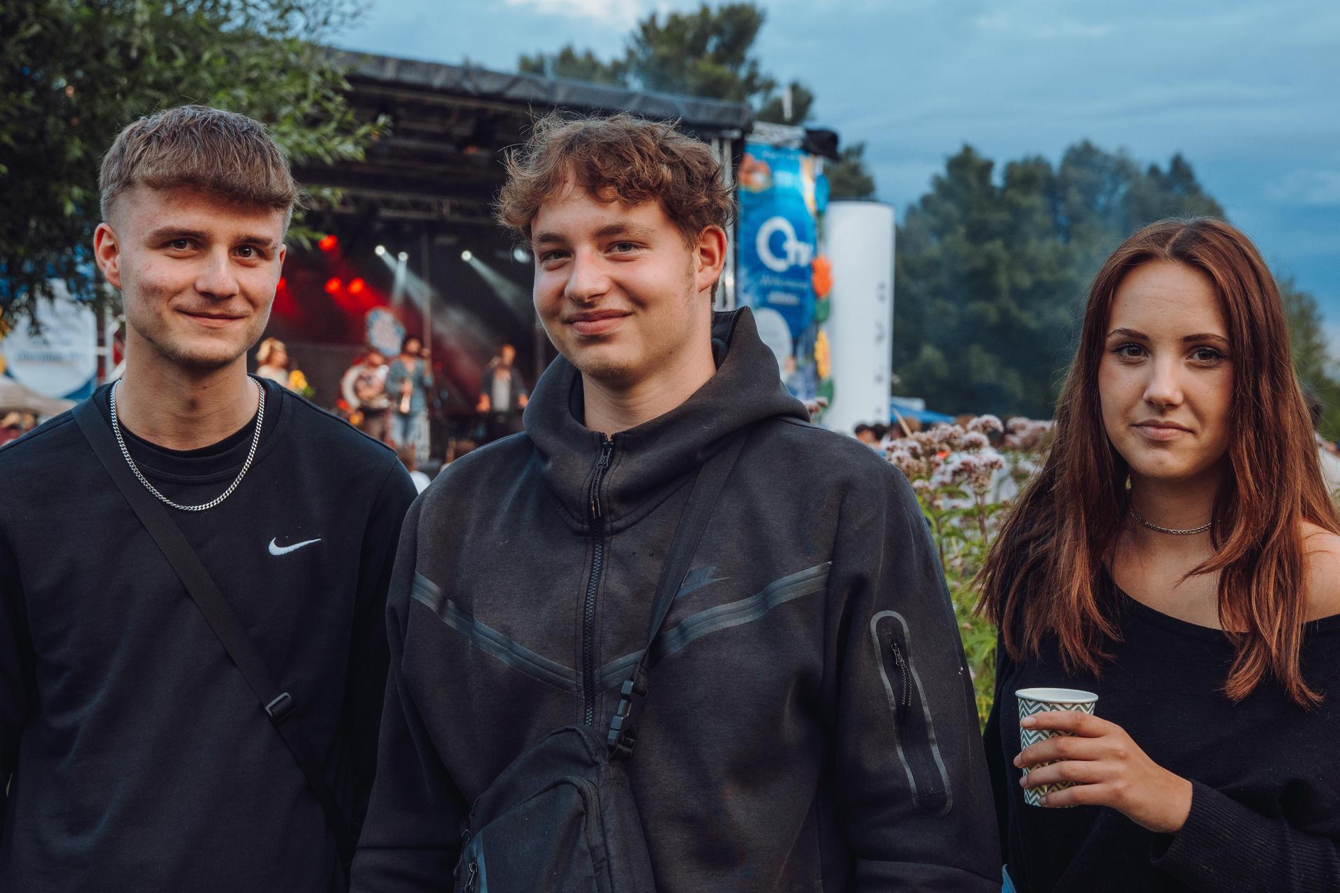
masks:
POLYGON ((497 220, 524 241, 540 205, 570 181, 599 201, 658 202, 690 245, 708 226, 726 229, 734 213, 734 195, 706 143, 670 123, 628 114, 545 115, 505 163, 497 220))

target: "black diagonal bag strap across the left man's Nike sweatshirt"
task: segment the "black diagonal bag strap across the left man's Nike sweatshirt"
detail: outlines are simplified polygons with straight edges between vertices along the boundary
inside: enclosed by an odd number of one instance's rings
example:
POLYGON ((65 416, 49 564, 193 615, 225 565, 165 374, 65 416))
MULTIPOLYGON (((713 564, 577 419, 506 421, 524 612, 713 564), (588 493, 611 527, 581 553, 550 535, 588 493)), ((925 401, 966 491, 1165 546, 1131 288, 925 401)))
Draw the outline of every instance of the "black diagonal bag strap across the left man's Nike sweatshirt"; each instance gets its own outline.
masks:
POLYGON ((307 785, 311 787, 312 795, 316 797, 316 802, 322 806, 322 813, 326 814, 326 825, 335 837, 335 849, 339 850, 340 864, 344 866, 344 873, 347 874, 348 866, 354 860, 354 829, 335 801, 335 791, 326 782, 326 775, 316 760, 311 742, 303 734, 303 727, 297 720, 297 706, 293 703, 292 696, 279 688, 279 683, 275 681, 269 668, 265 665, 265 659, 261 657, 256 645, 247 636, 247 629, 237 620, 233 609, 228 606, 224 593, 214 585, 209 572, 205 570, 205 565, 201 564, 200 556, 186 542, 186 537, 182 536, 181 529, 177 527, 172 515, 168 514, 168 509, 130 471, 125 457, 121 455, 121 449, 113 438, 111 430, 107 427, 106 419, 102 418, 98 407, 94 406, 92 398, 76 406, 74 416, 98 461, 102 462, 102 467, 107 470, 107 475, 117 485, 117 489, 121 490, 121 495, 126 498, 130 507, 139 515, 141 523, 145 525, 154 542, 158 544, 163 557, 168 558, 168 564, 181 577, 192 601, 200 608, 200 613, 205 616, 209 628, 214 631, 218 641, 222 643, 224 651, 233 659, 247 684, 256 694, 261 708, 269 716, 271 724, 275 726, 288 750, 292 751, 299 768, 307 777, 307 785))

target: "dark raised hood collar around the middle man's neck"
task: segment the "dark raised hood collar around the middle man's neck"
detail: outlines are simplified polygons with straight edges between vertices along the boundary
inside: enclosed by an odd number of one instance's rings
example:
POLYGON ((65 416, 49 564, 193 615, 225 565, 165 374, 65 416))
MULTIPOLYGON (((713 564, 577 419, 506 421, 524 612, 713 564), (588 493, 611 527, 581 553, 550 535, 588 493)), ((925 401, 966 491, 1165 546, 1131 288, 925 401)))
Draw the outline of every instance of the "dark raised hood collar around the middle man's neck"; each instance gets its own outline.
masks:
MULTIPOLYGON (((600 485, 607 530, 659 505, 740 428, 769 418, 809 420, 781 383, 749 308, 713 313, 712 347, 717 372, 706 384, 665 415, 614 435, 600 485)), ((540 376, 523 418, 545 482, 571 521, 586 526, 604 435, 582 423, 582 376, 560 356, 540 376)))

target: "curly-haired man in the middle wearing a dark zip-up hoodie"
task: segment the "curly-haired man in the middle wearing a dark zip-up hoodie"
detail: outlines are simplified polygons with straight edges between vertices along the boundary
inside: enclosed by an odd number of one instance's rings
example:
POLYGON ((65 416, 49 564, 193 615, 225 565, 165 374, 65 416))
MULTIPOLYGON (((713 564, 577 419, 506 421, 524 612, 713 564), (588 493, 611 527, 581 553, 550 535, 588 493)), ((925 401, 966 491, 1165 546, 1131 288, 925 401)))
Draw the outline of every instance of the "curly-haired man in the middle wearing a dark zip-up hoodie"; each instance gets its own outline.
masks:
MULTIPOLYGON (((1000 890, 921 511, 887 462, 809 424, 748 309, 713 315, 733 202, 712 153, 626 115, 551 116, 508 173, 500 217, 535 252, 561 356, 525 431, 453 463, 406 519, 355 889, 453 872, 520 889, 520 856, 481 849, 470 806, 553 730, 619 728, 690 482, 738 450, 619 751, 655 889, 1000 890)), ((580 869, 574 841, 551 845, 536 877, 580 869)))

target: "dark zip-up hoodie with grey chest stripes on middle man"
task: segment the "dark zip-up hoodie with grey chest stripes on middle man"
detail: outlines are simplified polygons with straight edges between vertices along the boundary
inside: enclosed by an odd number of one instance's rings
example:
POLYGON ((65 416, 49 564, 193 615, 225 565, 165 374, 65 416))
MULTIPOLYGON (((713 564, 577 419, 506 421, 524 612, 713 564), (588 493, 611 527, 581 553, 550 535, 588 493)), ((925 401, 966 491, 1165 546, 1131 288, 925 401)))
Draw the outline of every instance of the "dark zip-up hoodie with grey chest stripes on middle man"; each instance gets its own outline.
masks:
POLYGON ((663 632, 630 764, 662 893, 1000 890, 972 683, 906 479, 808 423, 748 311, 717 374, 612 439, 556 360, 525 432, 406 518, 358 890, 449 886, 468 805, 545 732, 608 723, 690 471, 752 432, 663 632))

